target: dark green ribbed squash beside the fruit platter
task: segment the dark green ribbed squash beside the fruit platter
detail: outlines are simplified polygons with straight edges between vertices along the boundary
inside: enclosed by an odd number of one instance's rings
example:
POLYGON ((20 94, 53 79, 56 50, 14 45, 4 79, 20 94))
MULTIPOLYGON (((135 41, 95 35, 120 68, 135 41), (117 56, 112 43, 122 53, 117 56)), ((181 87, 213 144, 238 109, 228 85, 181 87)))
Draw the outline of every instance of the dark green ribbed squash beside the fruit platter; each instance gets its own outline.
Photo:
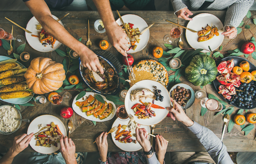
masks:
POLYGON ((208 55, 195 55, 185 69, 185 77, 193 85, 204 86, 217 75, 215 61, 208 55))

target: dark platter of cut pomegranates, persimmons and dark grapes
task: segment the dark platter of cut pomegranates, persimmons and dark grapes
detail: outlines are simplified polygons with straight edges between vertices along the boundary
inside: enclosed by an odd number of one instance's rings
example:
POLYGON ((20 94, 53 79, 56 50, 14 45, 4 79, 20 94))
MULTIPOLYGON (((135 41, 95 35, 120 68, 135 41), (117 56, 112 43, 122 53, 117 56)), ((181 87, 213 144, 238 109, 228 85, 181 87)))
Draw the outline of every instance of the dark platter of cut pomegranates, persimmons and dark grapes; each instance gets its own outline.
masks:
POLYGON ((256 107, 256 67, 250 61, 237 56, 225 57, 217 70, 213 84, 228 104, 240 109, 256 107))

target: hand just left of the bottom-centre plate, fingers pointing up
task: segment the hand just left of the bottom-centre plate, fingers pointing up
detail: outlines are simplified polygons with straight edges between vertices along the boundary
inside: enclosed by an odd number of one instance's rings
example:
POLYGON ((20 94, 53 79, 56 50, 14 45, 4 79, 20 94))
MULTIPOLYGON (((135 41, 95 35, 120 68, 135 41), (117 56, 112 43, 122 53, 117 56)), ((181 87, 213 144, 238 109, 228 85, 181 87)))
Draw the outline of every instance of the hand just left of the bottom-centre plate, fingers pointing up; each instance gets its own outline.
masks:
POLYGON ((97 138, 96 138, 96 144, 98 147, 99 152, 99 159, 102 162, 106 162, 106 156, 107 156, 107 132, 102 132, 97 138))

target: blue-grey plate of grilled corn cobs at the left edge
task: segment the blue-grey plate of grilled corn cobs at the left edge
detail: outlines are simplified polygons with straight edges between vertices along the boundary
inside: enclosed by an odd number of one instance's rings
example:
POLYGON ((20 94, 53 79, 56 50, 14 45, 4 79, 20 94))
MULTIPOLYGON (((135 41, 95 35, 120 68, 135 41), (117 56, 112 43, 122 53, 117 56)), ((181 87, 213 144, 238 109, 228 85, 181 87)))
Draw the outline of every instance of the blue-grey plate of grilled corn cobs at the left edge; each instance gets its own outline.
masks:
POLYGON ((25 66, 7 56, 0 56, 0 100, 11 104, 24 104, 34 93, 29 90, 24 73, 25 66))

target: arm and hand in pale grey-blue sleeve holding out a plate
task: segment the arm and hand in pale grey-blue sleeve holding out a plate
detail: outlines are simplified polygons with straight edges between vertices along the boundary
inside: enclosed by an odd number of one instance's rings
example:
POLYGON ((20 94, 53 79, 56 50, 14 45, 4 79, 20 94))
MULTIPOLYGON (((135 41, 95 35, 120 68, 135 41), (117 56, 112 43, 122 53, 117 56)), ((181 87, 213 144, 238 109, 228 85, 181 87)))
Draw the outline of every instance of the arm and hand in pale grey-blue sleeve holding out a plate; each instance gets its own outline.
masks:
POLYGON ((175 109, 167 109, 170 111, 171 118, 182 122, 193 134, 195 134, 216 164, 232 164, 232 160, 226 152, 226 147, 219 138, 217 138, 217 136, 208 128, 190 120, 176 101, 174 101, 174 104, 175 109))

